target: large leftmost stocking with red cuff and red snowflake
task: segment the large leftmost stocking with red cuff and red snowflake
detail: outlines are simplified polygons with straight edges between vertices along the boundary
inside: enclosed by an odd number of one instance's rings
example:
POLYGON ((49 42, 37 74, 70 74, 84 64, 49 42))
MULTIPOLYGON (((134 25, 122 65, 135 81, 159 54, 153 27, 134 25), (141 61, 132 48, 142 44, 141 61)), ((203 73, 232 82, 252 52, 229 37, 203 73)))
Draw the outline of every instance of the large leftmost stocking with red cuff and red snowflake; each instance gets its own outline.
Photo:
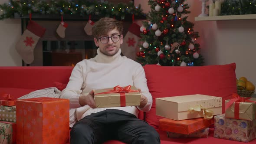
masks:
POLYGON ((34 48, 45 31, 45 28, 30 20, 20 40, 16 43, 15 49, 27 64, 34 61, 34 48))

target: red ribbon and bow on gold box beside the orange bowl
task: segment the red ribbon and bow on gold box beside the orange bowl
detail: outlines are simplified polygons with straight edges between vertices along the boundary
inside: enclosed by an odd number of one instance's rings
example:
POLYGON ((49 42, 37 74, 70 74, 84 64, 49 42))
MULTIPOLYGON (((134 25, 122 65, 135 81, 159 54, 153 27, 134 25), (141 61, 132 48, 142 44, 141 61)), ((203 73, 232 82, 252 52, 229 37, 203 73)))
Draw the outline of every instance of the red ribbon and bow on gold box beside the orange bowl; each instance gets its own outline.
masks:
POLYGON ((238 95, 237 93, 233 93, 232 94, 232 99, 230 99, 230 101, 226 103, 225 111, 231 105, 233 105, 233 103, 235 103, 235 110, 234 110, 235 119, 239 119, 239 104, 240 104, 240 102, 254 102, 254 103, 256 103, 256 101, 251 101, 251 100, 248 100, 248 99, 250 99, 250 98, 249 97, 248 98, 240 97, 240 95, 238 95))

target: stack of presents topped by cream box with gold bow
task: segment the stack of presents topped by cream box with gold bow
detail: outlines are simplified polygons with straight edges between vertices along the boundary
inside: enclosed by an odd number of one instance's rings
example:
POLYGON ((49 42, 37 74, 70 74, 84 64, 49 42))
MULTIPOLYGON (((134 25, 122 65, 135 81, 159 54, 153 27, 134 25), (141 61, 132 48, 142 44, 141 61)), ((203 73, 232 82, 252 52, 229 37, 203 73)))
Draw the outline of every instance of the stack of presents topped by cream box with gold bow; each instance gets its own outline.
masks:
POLYGON ((159 129, 169 138, 207 138, 213 115, 222 112, 222 98, 210 95, 183 95, 156 98, 159 129))

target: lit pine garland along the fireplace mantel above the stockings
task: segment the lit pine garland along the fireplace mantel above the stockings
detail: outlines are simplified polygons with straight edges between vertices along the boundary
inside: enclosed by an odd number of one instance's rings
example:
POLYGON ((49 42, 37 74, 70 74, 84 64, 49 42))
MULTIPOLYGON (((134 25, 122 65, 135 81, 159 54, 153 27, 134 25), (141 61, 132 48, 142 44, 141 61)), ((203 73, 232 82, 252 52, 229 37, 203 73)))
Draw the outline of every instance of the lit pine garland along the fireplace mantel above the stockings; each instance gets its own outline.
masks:
POLYGON ((85 0, 10 0, 9 3, 0 4, 0 20, 13 18, 18 13, 21 17, 29 13, 39 14, 79 14, 81 17, 94 15, 97 17, 115 17, 124 20, 125 16, 145 16, 141 5, 134 6, 130 1, 126 3, 108 3, 108 1, 85 0))

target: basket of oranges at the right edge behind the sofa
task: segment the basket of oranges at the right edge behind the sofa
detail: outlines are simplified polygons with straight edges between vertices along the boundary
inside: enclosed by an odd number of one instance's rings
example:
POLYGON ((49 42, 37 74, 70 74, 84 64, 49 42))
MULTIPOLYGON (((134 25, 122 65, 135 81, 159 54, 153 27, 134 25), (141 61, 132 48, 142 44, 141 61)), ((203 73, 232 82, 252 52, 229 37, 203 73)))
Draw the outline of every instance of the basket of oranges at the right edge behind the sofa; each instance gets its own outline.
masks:
POLYGON ((251 97, 255 92, 255 85, 246 77, 236 78, 237 94, 242 97, 251 97))

